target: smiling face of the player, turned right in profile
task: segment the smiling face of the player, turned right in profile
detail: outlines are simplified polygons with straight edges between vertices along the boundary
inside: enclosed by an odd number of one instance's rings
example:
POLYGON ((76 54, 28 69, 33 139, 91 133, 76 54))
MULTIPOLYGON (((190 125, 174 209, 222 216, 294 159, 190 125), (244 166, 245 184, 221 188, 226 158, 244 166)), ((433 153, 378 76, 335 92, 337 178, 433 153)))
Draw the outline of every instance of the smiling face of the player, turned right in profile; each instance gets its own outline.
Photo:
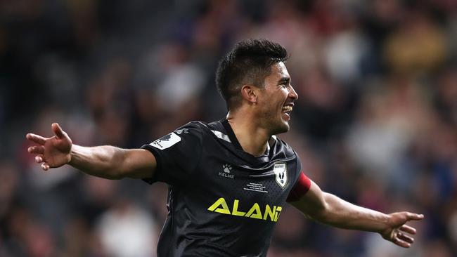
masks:
POLYGON ((284 62, 271 65, 271 73, 265 77, 258 98, 260 126, 268 129, 271 135, 287 132, 293 102, 297 99, 284 62))

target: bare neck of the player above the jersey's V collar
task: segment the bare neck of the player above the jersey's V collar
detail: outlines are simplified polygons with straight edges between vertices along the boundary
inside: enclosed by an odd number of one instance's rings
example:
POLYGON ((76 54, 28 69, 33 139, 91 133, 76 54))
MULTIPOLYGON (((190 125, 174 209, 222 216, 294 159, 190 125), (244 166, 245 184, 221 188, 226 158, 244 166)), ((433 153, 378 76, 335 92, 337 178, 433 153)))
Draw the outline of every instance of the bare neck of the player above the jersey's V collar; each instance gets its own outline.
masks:
POLYGON ((254 117, 228 112, 227 120, 245 152, 255 157, 264 154, 271 135, 255 123, 254 117))

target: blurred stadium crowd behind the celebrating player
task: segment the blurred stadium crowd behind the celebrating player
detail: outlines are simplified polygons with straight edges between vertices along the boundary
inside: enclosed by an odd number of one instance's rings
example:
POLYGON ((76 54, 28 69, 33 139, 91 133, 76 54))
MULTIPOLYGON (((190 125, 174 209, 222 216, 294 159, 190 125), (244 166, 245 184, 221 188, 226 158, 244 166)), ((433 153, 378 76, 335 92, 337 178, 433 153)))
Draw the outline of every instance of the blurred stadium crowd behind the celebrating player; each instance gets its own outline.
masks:
POLYGON ((269 257, 457 256, 457 1, 0 1, 0 256, 155 256, 167 186, 43 172, 25 133, 140 147, 226 108, 221 55, 290 53, 292 130, 323 190, 425 220, 416 244, 281 214, 269 257))

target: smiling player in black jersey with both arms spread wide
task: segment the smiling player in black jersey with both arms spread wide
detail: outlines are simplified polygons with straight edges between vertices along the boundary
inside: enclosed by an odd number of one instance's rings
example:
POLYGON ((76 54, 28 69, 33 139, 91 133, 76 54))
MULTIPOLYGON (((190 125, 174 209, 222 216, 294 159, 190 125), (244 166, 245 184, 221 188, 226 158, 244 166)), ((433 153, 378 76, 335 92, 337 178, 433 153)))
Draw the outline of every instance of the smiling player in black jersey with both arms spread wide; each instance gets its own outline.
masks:
POLYGON ((32 133, 35 160, 45 171, 70 164, 93 176, 140 178, 169 185, 168 216, 158 256, 266 256, 285 202, 337 228, 378 232, 402 247, 423 215, 380 213, 321 191, 300 159, 275 135, 289 130, 298 95, 285 67, 288 54, 267 40, 240 41, 217 69, 226 119, 192 121, 140 149, 82 147, 58 124, 55 136, 32 133))

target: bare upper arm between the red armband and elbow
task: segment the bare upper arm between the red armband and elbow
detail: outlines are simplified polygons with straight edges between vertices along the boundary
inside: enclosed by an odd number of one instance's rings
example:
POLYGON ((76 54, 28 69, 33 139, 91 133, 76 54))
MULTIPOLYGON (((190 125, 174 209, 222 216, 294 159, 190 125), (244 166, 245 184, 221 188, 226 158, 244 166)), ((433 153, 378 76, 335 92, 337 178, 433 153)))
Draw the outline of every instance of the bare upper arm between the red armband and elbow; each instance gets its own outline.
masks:
POLYGON ((324 192, 313 181, 311 181, 309 191, 297 201, 290 202, 290 204, 309 218, 315 218, 327 208, 324 192))

